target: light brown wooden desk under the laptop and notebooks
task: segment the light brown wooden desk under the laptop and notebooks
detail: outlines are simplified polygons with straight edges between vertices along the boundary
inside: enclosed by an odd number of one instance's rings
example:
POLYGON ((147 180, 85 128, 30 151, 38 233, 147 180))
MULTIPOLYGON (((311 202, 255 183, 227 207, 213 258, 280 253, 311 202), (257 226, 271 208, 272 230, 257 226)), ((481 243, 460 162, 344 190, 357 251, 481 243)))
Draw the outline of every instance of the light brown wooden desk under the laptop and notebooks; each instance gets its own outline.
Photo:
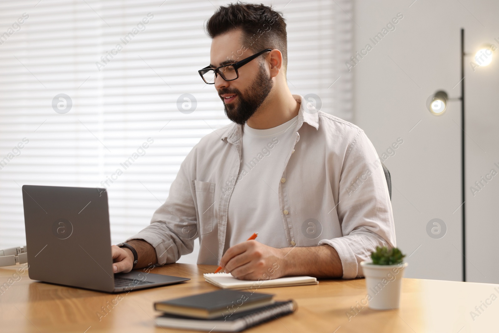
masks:
MULTIPOLYGON (((153 303, 217 289, 203 279, 203 273, 213 272, 215 266, 171 264, 156 268, 153 273, 192 280, 181 285, 118 294, 121 298, 35 282, 28 278, 27 272, 19 279, 14 276, 18 268, 19 265, 0 269, 0 287, 12 279, 11 285, 0 288, 0 332, 186 332, 155 327, 154 318, 158 313, 153 303), (113 301, 116 305, 108 306, 113 301), (107 314, 102 311, 106 306, 110 309, 107 314)), ((321 280, 314 286, 259 291, 275 294, 276 299, 294 299, 299 308, 292 315, 246 331, 249 333, 499 331, 499 285, 404 279, 400 309, 373 311, 359 306, 360 311, 354 317, 350 307, 356 307, 366 294, 363 279, 321 280), (492 294, 496 296, 494 301, 489 299, 492 294), (475 307, 487 299, 490 305, 482 306, 484 311, 473 320, 470 312, 476 312, 475 307)))

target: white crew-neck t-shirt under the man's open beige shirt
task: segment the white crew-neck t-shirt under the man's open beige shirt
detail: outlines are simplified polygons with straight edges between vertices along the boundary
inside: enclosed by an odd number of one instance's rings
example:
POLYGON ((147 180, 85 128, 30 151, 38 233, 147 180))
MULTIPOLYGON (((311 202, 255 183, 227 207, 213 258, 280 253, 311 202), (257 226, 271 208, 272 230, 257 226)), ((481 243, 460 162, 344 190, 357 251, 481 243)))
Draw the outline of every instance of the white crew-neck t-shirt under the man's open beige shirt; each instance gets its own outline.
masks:
POLYGON ((298 116, 268 129, 243 126, 243 159, 229 202, 224 253, 255 232, 256 240, 262 244, 274 248, 289 246, 278 190, 286 157, 296 139, 297 119, 298 116))

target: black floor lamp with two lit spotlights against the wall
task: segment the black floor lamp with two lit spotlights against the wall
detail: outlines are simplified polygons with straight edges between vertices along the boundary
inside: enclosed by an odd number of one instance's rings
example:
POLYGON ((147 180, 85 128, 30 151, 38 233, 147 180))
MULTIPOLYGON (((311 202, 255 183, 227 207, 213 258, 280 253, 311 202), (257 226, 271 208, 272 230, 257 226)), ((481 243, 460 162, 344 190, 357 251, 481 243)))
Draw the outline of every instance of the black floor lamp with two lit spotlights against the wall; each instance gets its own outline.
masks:
MULTIPOLYGON (((494 45, 484 45, 477 53, 475 53, 476 67, 487 66, 492 61, 492 52, 496 50, 494 45)), ((465 56, 471 53, 465 53, 465 29, 461 29, 461 96, 457 98, 449 98, 447 92, 439 90, 431 95, 427 100, 428 110, 434 115, 442 115, 447 109, 447 101, 461 101, 461 199, 462 199, 462 246, 463 246, 463 281, 466 282, 466 190, 465 190, 465 56)))

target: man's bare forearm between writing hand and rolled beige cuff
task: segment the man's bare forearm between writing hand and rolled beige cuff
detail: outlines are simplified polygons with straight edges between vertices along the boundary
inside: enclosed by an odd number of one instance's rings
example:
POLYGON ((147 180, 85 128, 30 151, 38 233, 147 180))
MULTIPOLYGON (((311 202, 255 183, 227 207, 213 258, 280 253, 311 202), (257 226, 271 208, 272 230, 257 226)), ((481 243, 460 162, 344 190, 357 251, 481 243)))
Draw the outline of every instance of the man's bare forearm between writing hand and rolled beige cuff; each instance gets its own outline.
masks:
POLYGON ((343 267, 336 250, 329 245, 284 248, 287 276, 308 275, 316 278, 341 278, 343 267))

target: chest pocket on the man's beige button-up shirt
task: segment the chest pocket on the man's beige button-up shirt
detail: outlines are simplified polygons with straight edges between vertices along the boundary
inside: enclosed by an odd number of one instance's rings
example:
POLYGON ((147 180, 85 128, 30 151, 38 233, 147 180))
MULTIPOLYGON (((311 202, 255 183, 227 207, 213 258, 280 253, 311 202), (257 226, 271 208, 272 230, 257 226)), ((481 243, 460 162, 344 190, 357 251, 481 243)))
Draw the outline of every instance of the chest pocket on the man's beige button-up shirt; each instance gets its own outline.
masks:
POLYGON ((200 234, 204 235, 213 230, 213 211, 215 206, 215 183, 193 180, 198 205, 198 221, 200 234))

